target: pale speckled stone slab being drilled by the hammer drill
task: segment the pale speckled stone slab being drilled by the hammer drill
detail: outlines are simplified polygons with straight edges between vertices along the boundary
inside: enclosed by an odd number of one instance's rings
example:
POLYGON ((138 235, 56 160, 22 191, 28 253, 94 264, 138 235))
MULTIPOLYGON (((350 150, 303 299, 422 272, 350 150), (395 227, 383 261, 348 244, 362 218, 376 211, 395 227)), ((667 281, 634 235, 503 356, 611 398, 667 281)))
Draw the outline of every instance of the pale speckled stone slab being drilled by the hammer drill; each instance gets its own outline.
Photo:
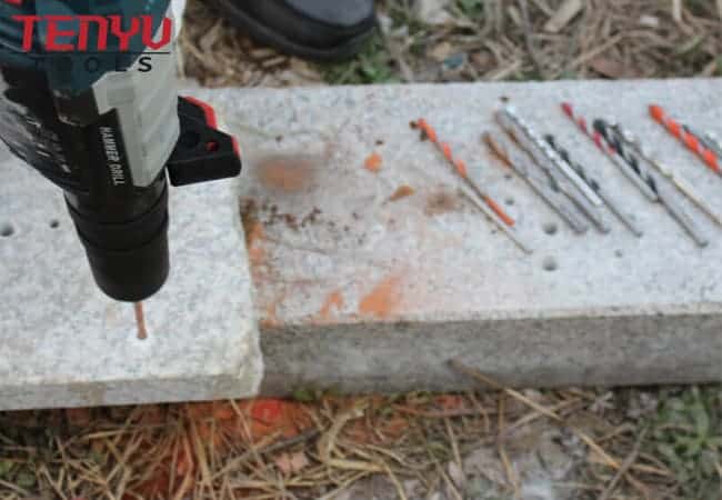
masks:
POLYGON ((209 400, 262 373, 235 199, 222 181, 171 191, 168 284, 133 309, 96 289, 58 188, 0 151, 0 410, 209 400), (57 228, 51 227, 58 226, 57 228))

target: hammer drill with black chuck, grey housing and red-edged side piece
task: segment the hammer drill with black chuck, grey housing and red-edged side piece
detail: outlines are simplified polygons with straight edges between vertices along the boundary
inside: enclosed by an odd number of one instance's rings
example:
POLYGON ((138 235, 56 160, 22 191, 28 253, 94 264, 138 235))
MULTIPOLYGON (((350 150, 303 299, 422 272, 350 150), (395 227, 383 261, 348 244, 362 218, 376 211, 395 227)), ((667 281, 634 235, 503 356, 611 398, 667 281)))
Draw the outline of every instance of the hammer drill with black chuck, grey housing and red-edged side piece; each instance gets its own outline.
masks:
POLYGON ((169 273, 168 191, 235 177, 235 140, 179 98, 170 0, 0 0, 0 139, 64 192, 92 274, 140 302, 169 273))

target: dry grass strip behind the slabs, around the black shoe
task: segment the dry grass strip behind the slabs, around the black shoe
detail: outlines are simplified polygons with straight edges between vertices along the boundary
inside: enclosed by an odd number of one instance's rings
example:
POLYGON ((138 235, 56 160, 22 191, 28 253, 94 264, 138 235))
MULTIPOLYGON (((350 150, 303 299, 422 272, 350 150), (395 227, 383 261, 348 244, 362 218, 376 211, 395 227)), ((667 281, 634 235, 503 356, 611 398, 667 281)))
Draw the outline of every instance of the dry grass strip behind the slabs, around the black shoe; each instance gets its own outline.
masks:
POLYGON ((679 2, 679 20, 672 1, 589 0, 559 32, 544 28, 561 0, 455 0, 440 26, 419 22, 410 0, 385 0, 383 36, 323 67, 254 46, 211 3, 190 2, 182 48, 185 73, 212 87, 722 74, 714 0, 679 2))

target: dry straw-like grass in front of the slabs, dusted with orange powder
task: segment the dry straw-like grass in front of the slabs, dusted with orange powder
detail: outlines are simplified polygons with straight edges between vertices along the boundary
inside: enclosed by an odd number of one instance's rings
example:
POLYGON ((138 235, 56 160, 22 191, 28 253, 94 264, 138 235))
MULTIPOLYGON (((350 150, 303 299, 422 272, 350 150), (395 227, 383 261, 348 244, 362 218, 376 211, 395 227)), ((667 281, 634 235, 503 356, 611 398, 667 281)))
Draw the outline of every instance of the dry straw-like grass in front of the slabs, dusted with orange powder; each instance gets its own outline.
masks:
MULTIPOLYGON (((704 393, 708 420, 719 418, 722 394, 704 393)), ((671 426, 658 420, 662 407, 633 390, 503 389, 2 413, 0 498, 331 499, 375 476, 385 478, 380 498, 484 499, 482 481, 489 499, 512 499, 529 480, 524 460, 558 460, 540 438, 551 431, 571 460, 544 466, 558 473, 553 498, 718 500, 688 497, 655 451, 671 426), (470 462, 480 450, 491 459, 470 462)), ((691 494, 700 491, 710 490, 691 494)))

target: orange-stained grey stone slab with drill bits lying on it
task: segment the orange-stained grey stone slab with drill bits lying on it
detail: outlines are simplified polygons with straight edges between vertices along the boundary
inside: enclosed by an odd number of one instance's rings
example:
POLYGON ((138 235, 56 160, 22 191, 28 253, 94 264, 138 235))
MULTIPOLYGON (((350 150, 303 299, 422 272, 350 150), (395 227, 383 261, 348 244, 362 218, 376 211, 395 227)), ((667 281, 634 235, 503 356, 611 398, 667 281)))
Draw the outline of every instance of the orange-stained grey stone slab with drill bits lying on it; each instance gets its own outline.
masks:
POLYGON ((240 202, 264 392, 469 387, 448 367, 452 358, 523 386, 722 380, 722 229, 694 212, 711 239, 698 248, 559 108, 570 100, 590 117, 614 114, 722 210, 722 178, 646 114, 659 102, 722 132, 720 80, 199 94, 245 151, 240 202), (502 98, 623 200, 644 238, 611 214, 610 234, 575 236, 508 176, 480 142, 482 131, 499 130, 492 111, 502 98), (422 116, 505 203, 533 256, 457 197, 457 178, 409 128, 422 116), (378 173, 364 168, 374 152, 378 173))

